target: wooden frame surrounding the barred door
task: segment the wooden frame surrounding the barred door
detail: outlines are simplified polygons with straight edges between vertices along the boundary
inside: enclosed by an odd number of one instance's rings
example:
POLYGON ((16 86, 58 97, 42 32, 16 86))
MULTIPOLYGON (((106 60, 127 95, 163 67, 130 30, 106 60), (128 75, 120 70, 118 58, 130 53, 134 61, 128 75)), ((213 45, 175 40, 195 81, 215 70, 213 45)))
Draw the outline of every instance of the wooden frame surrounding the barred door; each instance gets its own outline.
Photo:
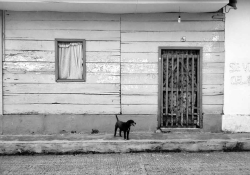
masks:
MULTIPOLYGON (((177 46, 160 46, 158 47, 158 110, 157 110, 157 128, 161 127, 161 111, 163 108, 163 104, 162 104, 162 98, 163 98, 163 91, 162 91, 162 73, 163 73, 163 60, 162 60, 162 50, 197 50, 200 53, 200 61, 199 61, 199 79, 197 81, 199 81, 199 86, 198 88, 199 90, 199 105, 200 105, 200 118, 199 118, 199 122, 200 122, 200 128, 198 129, 202 129, 203 128, 203 111, 202 111, 202 64, 203 64, 203 47, 177 47, 177 46)), ((170 129, 170 128, 169 128, 170 129)), ((182 129, 182 128, 176 128, 176 129, 182 129)), ((187 128, 185 128, 187 129, 187 128)))

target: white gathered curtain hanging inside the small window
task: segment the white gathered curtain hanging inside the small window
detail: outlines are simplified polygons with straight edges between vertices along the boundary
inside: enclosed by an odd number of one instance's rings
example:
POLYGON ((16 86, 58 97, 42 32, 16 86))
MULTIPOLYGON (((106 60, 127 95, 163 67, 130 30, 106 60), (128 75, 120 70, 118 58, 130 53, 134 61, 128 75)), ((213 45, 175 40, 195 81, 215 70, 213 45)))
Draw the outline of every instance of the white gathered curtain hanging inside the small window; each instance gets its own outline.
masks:
POLYGON ((82 43, 59 43, 59 79, 83 78, 82 43))

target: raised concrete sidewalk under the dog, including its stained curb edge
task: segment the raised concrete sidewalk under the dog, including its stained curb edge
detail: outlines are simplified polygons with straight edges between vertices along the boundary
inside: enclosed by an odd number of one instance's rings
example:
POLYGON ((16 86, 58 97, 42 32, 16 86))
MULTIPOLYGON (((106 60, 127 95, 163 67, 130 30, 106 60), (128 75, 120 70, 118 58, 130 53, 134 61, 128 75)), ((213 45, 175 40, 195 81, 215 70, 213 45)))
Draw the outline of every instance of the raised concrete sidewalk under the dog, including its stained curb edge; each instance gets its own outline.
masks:
POLYGON ((0 155, 128 153, 154 151, 250 151, 250 133, 130 133, 0 136, 0 155))

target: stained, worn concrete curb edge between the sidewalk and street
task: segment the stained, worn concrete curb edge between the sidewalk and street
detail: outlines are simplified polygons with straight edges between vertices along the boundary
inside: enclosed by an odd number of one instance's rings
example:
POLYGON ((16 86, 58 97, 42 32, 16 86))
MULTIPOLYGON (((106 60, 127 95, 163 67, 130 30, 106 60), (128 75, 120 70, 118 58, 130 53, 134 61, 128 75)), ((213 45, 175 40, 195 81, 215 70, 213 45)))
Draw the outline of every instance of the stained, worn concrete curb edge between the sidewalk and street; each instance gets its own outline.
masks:
POLYGON ((250 140, 2 141, 0 155, 250 151, 250 140))

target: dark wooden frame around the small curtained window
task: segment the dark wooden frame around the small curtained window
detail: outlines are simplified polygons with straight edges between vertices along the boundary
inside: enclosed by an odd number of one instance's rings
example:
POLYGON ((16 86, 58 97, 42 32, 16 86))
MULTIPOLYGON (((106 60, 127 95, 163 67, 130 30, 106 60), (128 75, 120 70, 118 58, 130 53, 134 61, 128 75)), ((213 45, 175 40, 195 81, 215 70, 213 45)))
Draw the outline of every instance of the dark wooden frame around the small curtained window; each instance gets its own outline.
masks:
POLYGON ((86 82, 86 40, 85 39, 55 39, 55 80, 56 82, 86 82), (60 42, 81 42, 83 50, 83 78, 82 79, 59 79, 59 49, 58 44, 60 42))

